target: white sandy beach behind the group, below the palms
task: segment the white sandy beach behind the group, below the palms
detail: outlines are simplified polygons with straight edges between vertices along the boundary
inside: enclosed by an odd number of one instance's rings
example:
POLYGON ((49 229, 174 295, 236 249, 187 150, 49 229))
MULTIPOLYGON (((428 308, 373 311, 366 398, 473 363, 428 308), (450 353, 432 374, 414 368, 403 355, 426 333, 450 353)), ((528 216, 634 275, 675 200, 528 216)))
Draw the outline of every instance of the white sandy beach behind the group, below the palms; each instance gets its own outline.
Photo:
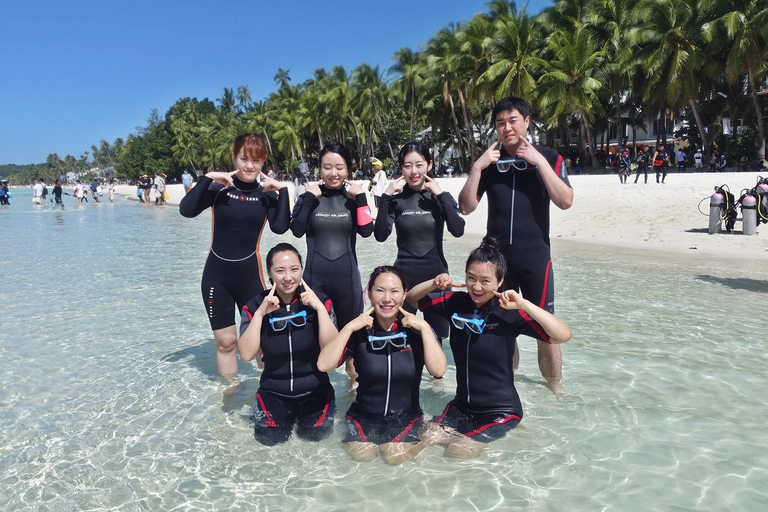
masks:
MULTIPOLYGON (((642 183, 642 176, 634 184, 634 177, 630 176, 626 185, 621 184, 615 174, 570 176, 575 191, 573 206, 565 211, 551 208, 550 232, 555 250, 559 250, 560 241, 568 241, 697 257, 768 260, 767 224, 758 226, 756 235, 743 235, 739 212, 732 233, 710 235, 707 232, 709 196, 714 187, 727 184, 738 198, 742 189, 755 185, 757 173, 672 173, 667 175, 665 184, 657 184, 655 176, 649 174, 647 184, 642 183), (702 199, 705 200, 701 211, 707 215, 698 210, 702 199)), ((464 181, 464 178, 438 180, 443 190, 455 198, 464 181)), ((116 191, 136 200, 134 186, 120 185, 116 191)), ((169 185, 168 193, 171 205, 178 205, 184 196, 181 185, 169 185)), ((372 198, 369 203, 373 204, 372 198)), ((466 217, 467 235, 485 233, 486 206, 487 202, 482 201, 480 207, 466 217)))

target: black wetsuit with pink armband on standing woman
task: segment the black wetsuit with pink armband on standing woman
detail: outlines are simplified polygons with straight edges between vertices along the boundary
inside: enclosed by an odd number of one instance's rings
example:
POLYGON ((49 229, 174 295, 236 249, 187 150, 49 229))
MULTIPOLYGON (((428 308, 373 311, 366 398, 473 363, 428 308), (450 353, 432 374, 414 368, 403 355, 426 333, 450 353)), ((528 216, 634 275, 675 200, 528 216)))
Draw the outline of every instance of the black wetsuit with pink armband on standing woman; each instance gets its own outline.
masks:
POLYGON ((363 312, 355 240, 357 234, 371 236, 373 220, 365 194, 352 199, 343 188, 320 189, 319 198, 306 192, 296 201, 291 232, 297 238, 307 235, 304 280, 330 297, 342 328, 363 312))

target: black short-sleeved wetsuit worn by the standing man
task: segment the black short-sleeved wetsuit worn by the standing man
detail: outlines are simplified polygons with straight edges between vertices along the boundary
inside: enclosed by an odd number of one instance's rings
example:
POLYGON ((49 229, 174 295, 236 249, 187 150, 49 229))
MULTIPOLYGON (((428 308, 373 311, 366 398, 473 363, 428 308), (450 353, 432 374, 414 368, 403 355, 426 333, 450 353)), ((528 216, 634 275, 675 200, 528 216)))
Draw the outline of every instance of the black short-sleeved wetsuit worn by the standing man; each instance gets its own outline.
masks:
MULTIPOLYGON (((570 187, 563 157, 553 149, 534 147, 570 187)), ((502 149, 501 158, 506 156, 502 149)), ((511 168, 502 173, 496 164, 490 165, 483 169, 480 176, 478 201, 484 194, 488 195, 487 234, 499 240, 501 253, 507 260, 505 288, 521 290, 526 299, 554 313, 554 274, 549 243, 550 198, 539 170, 528 164, 523 171, 511 168)))

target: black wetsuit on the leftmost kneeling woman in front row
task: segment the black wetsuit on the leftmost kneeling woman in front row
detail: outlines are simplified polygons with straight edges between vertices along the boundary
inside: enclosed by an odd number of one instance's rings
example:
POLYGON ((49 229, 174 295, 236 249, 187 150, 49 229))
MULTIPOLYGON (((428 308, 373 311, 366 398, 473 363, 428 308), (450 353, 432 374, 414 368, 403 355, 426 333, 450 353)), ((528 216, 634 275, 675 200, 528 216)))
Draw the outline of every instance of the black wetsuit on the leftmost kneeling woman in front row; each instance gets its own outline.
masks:
MULTIPOLYGON (((243 307, 240 335, 251 323, 269 292, 264 291, 243 307)), ((318 294, 326 311, 334 318, 328 297, 318 294)), ((261 350, 264 370, 253 406, 254 432, 263 444, 274 445, 288 440, 294 424, 299 437, 319 441, 331 434, 336 412, 333 387, 327 373, 317 369, 320 355, 317 312, 305 306, 298 293, 290 304, 266 315, 261 324, 261 350), (269 319, 305 311, 306 324, 300 327, 286 323, 276 331, 269 319)))

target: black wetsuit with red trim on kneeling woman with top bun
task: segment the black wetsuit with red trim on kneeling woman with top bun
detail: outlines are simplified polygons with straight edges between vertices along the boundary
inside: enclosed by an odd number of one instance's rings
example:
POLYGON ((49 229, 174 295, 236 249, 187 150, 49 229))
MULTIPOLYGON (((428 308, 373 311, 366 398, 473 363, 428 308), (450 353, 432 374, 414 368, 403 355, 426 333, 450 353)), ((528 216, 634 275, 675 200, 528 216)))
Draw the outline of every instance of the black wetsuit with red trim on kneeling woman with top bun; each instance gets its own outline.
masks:
POLYGON ((478 309, 466 292, 425 297, 419 301, 419 309, 432 310, 445 319, 457 313, 486 322, 481 334, 451 329, 456 397, 435 422, 480 442, 498 439, 517 426, 523 406, 512 364, 515 338, 524 334, 549 343, 544 329, 525 312, 503 309, 496 298, 478 309))

